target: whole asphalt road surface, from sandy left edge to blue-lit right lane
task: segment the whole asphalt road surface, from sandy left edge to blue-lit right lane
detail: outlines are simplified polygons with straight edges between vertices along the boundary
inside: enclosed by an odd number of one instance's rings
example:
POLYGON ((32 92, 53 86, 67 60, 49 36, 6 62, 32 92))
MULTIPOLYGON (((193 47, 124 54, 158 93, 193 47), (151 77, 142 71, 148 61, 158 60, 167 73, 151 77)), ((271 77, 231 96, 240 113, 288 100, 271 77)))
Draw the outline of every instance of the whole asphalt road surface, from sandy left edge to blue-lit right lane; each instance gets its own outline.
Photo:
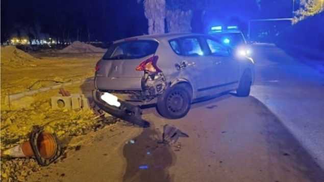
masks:
POLYGON ((177 120, 145 109, 150 128, 120 123, 74 138, 79 150, 29 180, 324 181, 321 75, 276 47, 256 47, 255 59, 250 97, 195 103, 177 120), (166 124, 189 137, 159 143, 166 124))

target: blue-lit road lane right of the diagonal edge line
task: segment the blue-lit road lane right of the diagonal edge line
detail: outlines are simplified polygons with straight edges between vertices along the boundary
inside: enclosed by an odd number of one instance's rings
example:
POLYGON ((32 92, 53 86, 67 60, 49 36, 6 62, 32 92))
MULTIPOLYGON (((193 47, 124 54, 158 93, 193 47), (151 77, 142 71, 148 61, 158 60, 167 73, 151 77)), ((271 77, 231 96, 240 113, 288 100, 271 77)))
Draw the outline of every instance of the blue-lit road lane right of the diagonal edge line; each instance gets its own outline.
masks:
POLYGON ((257 79, 251 95, 278 116, 324 169, 324 60, 292 57, 273 45, 254 48, 257 79))

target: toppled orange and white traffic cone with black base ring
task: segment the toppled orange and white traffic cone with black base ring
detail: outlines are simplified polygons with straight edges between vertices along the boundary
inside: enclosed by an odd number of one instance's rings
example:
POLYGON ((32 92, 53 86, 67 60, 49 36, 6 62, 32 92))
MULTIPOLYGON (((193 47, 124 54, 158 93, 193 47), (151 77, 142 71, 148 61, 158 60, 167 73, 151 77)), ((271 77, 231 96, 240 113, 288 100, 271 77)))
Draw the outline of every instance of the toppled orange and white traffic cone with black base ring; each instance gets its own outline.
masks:
POLYGON ((5 150, 3 155, 35 157, 38 164, 47 166, 58 159, 62 150, 55 134, 43 132, 43 127, 34 126, 30 140, 5 150))

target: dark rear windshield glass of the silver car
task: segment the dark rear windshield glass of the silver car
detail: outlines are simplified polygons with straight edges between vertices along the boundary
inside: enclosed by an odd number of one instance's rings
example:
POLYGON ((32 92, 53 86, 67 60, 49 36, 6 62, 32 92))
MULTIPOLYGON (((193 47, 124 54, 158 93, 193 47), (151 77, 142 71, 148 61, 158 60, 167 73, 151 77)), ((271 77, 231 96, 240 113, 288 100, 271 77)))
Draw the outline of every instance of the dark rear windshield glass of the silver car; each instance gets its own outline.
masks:
POLYGON ((154 54, 159 43, 156 41, 128 41, 111 45, 103 59, 136 59, 154 54))

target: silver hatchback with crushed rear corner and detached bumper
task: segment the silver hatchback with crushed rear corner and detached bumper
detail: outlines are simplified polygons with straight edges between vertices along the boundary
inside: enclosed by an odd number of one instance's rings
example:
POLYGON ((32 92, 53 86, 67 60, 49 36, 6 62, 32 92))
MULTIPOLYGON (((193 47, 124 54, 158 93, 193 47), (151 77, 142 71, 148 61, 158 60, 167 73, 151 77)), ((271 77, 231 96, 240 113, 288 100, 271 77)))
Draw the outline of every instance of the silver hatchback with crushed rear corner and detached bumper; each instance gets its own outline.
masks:
POLYGON ((115 101, 103 99, 109 94, 127 104, 156 104, 162 116, 172 119, 185 116, 198 98, 233 90, 246 97, 254 81, 252 58, 202 34, 118 40, 95 69, 94 101, 106 112, 121 113, 115 101))

